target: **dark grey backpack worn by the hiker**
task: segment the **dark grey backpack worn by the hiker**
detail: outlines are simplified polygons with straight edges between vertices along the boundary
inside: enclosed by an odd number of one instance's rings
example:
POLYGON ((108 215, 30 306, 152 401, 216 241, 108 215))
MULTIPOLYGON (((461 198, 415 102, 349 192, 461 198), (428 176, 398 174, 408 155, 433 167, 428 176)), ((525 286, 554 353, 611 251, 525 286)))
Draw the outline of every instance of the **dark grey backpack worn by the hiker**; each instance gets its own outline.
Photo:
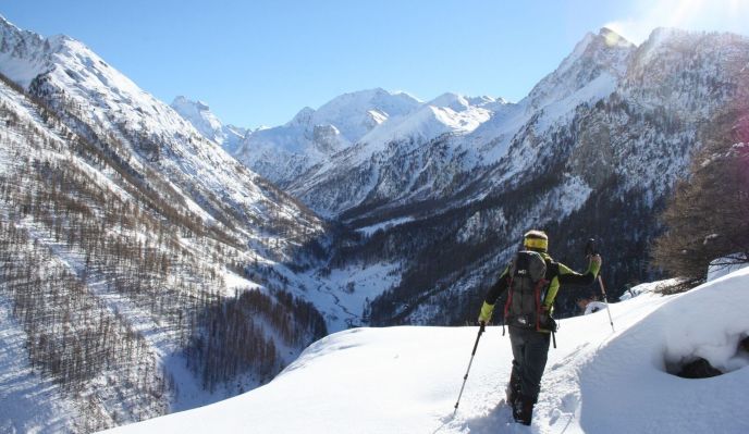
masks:
POLYGON ((540 330, 542 292, 549 283, 547 261, 536 251, 518 251, 509 263, 508 273, 505 322, 516 327, 540 330))

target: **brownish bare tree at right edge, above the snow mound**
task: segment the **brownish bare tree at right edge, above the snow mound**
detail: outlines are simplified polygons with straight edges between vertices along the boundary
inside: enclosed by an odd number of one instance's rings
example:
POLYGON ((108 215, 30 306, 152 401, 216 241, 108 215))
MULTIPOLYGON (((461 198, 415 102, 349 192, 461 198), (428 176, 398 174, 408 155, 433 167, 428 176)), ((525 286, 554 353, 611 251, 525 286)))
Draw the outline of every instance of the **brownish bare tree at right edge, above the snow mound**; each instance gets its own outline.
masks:
POLYGON ((749 262, 748 108, 742 99, 705 128, 705 145, 663 213, 667 231, 652 253, 674 276, 699 282, 713 260, 749 262))

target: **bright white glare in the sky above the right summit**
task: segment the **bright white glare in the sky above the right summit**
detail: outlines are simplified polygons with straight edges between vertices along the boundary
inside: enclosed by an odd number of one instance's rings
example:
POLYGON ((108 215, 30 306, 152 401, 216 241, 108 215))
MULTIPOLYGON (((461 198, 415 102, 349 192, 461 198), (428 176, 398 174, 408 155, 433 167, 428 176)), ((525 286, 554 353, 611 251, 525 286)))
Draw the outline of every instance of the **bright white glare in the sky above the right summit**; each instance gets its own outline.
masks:
POLYGON ((655 27, 749 33, 746 0, 638 0, 631 13, 605 26, 635 44, 655 27))

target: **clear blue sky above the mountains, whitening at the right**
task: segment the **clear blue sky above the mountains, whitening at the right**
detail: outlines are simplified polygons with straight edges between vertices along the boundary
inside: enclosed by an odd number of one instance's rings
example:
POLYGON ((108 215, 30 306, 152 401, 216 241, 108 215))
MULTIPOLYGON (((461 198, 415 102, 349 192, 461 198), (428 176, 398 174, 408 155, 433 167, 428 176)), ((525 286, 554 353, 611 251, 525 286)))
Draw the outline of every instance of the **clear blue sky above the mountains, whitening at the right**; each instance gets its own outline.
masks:
POLYGON ((746 0, 0 0, 0 14, 247 127, 373 87, 517 101, 602 26, 636 44, 655 26, 749 29, 746 0))

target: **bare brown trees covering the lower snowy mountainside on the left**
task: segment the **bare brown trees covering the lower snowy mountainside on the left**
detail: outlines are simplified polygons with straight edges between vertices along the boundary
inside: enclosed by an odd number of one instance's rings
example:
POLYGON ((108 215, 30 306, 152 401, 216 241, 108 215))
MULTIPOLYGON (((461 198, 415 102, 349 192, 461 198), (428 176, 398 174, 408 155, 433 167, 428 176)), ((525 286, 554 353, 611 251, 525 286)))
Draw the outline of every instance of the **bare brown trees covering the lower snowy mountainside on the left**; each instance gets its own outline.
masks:
POLYGON ((39 402, 70 401, 71 431, 99 431, 167 412, 179 390, 164 356, 183 354, 196 336, 232 345, 206 348, 205 384, 213 386, 250 373, 270 380, 290 351, 327 333, 311 305, 255 294, 288 284, 258 264, 263 257, 249 236, 258 226, 278 257, 319 231, 297 223, 299 208, 286 195, 249 186, 263 193, 263 211, 277 214, 261 221, 194 186, 198 210, 168 171, 138 159, 161 149, 159 136, 102 132, 85 114, 62 97, 30 97, 0 74, 0 308, 13 322, 0 328, 15 327, 27 360, 20 365, 53 385, 39 402), (251 309, 228 295, 225 277, 237 274, 261 281, 240 297, 251 309), (249 310, 265 321, 243 322, 249 310))

